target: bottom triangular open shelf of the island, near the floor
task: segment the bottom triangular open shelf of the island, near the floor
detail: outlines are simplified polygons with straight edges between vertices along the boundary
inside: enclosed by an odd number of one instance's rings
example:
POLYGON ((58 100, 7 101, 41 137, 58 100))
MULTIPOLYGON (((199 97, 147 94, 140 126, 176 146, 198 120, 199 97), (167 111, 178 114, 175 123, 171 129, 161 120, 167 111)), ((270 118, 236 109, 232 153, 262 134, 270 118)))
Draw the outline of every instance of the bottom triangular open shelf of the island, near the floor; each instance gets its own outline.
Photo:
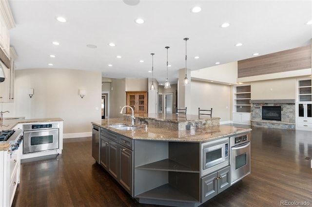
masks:
POLYGON ((137 198, 144 199, 157 199, 157 200, 167 200, 167 201, 177 201, 177 202, 190 202, 199 203, 193 196, 178 190, 170 184, 165 184, 157 188, 148 190, 141 194, 136 195, 137 198))

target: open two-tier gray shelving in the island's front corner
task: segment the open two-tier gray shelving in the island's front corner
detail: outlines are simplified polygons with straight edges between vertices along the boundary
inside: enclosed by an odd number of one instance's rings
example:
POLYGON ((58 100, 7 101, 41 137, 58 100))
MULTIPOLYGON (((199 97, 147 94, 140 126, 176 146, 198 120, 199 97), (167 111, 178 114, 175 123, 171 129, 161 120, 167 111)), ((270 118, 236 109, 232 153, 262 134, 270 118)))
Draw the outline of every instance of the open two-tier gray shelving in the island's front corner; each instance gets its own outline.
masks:
POLYGON ((199 143, 135 140, 135 147, 134 197, 140 203, 200 203, 199 143))

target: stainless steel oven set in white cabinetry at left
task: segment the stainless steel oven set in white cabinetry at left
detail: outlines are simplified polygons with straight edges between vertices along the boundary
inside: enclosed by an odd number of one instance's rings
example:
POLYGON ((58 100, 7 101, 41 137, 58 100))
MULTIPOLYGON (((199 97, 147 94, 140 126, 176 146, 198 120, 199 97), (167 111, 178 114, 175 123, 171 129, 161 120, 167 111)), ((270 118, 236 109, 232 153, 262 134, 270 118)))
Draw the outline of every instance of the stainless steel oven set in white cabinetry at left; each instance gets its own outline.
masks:
POLYGON ((23 153, 59 149, 59 122, 23 125, 23 153))

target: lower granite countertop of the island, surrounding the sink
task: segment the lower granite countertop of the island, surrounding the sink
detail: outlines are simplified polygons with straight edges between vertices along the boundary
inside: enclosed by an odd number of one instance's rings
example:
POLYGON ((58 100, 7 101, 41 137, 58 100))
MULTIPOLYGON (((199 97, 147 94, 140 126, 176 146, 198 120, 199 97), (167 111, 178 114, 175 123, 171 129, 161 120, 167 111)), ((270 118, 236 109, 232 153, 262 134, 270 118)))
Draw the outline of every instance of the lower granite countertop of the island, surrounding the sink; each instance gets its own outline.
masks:
POLYGON ((115 124, 125 124, 131 126, 131 122, 126 121, 123 118, 102 119, 92 122, 92 124, 108 129, 112 132, 117 132, 118 134, 124 135, 132 139, 185 142, 205 142, 238 133, 250 132, 252 130, 225 125, 211 126, 205 129, 191 129, 180 131, 157 128, 154 126, 148 126, 147 130, 145 130, 145 126, 142 125, 136 125, 137 127, 141 127, 141 129, 132 131, 121 131, 109 127, 109 125, 115 124))

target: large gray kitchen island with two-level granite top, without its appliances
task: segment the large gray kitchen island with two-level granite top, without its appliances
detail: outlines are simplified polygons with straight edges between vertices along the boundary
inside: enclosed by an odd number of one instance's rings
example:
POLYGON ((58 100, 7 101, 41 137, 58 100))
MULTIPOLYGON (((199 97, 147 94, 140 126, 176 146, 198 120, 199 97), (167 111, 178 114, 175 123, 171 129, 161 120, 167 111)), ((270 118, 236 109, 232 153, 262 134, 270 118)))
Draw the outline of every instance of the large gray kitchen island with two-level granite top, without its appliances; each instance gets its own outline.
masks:
MULTIPOLYGON (((128 114, 92 124, 99 127, 98 163, 139 203, 196 207, 231 186, 230 159, 223 162, 225 166, 206 173, 203 146, 248 134, 251 129, 219 125, 217 117, 135 117, 136 128, 128 130, 128 114)), ((227 146, 225 151, 229 149, 227 146)))

